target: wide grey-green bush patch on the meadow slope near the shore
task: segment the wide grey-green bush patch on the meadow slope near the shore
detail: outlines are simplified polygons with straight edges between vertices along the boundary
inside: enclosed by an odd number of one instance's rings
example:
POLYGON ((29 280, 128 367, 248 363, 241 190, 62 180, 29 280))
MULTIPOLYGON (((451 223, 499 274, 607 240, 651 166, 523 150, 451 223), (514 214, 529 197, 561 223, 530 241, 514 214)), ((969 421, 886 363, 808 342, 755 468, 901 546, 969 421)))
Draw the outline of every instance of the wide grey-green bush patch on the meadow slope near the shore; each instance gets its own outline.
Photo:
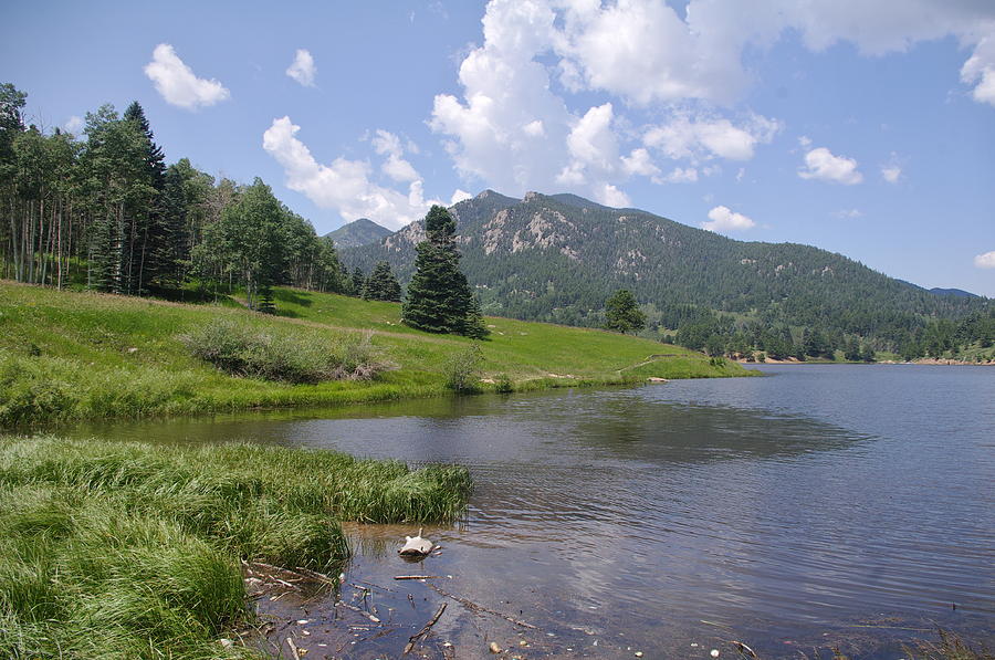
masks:
POLYGON ((376 360, 369 335, 348 336, 328 347, 305 333, 264 332, 219 321, 180 337, 190 353, 233 376, 292 384, 323 380, 365 380, 386 365, 376 360))

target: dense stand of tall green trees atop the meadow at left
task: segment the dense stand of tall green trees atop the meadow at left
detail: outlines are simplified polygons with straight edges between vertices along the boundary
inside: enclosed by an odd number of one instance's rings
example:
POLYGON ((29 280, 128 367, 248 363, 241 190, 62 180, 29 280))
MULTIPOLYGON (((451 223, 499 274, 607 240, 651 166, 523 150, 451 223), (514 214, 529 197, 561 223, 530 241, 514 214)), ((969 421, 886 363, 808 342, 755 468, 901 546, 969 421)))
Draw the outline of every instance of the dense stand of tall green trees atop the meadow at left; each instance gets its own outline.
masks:
MULTIPOLYGON (((261 179, 239 185, 166 163, 145 112, 107 104, 83 136, 25 125, 27 94, 0 85, 0 273, 18 282, 126 295, 245 291, 272 307, 289 284, 359 295, 331 239, 261 179)), ((369 297, 384 293, 377 273, 369 297)), ((396 284, 396 280, 395 280, 396 284)))

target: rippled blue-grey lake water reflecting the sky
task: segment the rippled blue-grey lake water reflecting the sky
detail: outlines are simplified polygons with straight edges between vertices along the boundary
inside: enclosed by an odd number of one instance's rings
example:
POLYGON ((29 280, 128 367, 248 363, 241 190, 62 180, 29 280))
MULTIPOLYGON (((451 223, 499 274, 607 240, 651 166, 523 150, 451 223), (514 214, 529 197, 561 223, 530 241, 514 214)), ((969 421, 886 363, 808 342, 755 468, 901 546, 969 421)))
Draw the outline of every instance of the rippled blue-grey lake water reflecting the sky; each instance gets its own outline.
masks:
POLYGON ((764 658, 900 658, 935 626, 991 646, 995 369, 757 368, 768 377, 77 432, 468 465, 467 520, 426 530, 440 556, 412 567, 395 553, 410 528, 350 528, 347 585, 394 589, 368 599, 397 626, 355 657, 398 656, 443 600, 392 580, 421 570, 540 628, 450 600, 426 648, 448 640, 455 657, 490 640, 523 658, 735 657, 722 642, 739 639, 764 658))

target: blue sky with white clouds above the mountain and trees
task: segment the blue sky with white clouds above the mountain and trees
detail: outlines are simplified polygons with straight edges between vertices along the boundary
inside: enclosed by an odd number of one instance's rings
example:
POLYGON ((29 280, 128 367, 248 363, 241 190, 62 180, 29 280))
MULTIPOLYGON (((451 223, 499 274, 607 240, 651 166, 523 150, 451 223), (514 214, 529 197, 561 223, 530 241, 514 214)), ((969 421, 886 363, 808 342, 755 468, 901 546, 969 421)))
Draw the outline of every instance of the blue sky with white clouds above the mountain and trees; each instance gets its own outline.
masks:
POLYGON ((0 82, 318 233, 574 192, 995 296, 993 0, 21 2, 0 82))

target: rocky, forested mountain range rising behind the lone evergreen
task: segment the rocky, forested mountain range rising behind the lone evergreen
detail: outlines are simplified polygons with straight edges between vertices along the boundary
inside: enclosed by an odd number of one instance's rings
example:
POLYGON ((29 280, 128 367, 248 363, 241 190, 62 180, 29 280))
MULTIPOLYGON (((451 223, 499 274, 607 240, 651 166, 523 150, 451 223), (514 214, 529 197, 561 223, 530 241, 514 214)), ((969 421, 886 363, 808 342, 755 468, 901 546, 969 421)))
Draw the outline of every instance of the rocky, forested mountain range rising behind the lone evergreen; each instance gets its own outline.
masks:
MULTIPOLYGON (((960 318, 988 303, 936 295, 810 245, 736 241, 574 195, 485 190, 451 211, 463 270, 489 314, 596 325, 605 300, 625 287, 671 329, 715 311, 893 345, 929 317, 960 318)), ((412 223, 342 259, 366 271, 386 259, 404 282, 423 238, 412 223)))

